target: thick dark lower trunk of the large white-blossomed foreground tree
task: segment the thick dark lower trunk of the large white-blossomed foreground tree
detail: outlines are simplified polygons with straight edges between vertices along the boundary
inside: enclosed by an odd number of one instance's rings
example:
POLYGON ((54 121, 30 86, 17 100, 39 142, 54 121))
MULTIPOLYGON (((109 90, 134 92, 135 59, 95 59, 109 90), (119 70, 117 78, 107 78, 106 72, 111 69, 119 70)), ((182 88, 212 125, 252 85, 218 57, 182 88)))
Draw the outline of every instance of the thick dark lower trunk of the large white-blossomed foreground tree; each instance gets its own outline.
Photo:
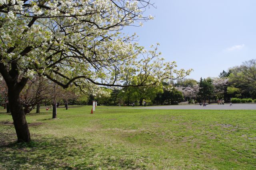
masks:
POLYGON ((18 142, 30 142, 30 132, 28 130, 28 124, 22 104, 20 103, 20 91, 14 89, 14 87, 9 87, 8 96, 18 142))

